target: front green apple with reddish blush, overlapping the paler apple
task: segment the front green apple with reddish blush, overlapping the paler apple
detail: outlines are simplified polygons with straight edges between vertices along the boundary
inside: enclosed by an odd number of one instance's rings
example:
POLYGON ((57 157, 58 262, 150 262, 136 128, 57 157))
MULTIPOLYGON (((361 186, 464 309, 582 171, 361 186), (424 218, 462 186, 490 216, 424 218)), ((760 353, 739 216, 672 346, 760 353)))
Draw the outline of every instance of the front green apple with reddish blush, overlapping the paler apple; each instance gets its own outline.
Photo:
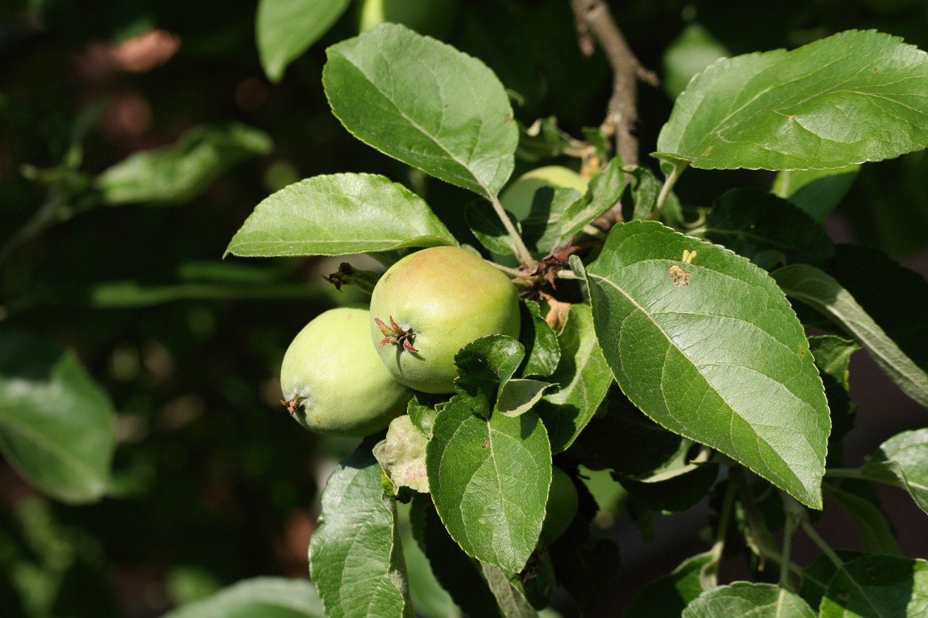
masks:
POLYGON ((425 393, 455 392, 461 347, 487 334, 519 336, 516 287, 458 246, 422 249, 393 264, 374 288, 370 314, 370 337, 383 364, 396 380, 425 393), (386 341, 374 318, 410 333, 414 351, 386 341))

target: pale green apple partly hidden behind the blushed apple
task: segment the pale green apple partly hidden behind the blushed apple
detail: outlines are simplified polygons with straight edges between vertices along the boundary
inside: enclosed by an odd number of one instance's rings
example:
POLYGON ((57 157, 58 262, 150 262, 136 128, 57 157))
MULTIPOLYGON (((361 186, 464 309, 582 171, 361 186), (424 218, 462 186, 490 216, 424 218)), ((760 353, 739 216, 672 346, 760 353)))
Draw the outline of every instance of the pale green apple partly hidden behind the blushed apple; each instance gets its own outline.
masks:
POLYGON ((385 429, 412 391, 393 379, 370 347, 364 306, 325 311, 293 338, 280 386, 293 418, 317 434, 365 436, 385 429))

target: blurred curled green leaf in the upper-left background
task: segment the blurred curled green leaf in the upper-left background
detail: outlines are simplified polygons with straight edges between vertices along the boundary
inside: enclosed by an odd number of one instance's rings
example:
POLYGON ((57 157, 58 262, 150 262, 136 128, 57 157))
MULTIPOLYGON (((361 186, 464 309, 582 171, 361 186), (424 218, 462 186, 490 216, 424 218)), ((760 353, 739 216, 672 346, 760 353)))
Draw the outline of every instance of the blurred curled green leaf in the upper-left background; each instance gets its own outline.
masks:
POLYGON ((272 148, 267 133, 243 124, 190 129, 172 145, 142 150, 97 176, 104 203, 184 204, 223 172, 272 148))

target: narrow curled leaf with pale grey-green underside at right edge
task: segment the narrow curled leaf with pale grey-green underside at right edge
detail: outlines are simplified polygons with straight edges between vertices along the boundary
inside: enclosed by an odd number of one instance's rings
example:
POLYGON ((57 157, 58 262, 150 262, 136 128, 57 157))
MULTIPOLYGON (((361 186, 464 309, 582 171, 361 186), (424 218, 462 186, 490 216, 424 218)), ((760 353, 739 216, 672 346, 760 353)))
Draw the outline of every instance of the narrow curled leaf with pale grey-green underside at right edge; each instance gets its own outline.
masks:
POLYGON ((806 264, 784 266, 770 276, 787 296, 818 310, 857 339, 899 388, 928 408, 928 375, 873 322, 841 284, 806 264))

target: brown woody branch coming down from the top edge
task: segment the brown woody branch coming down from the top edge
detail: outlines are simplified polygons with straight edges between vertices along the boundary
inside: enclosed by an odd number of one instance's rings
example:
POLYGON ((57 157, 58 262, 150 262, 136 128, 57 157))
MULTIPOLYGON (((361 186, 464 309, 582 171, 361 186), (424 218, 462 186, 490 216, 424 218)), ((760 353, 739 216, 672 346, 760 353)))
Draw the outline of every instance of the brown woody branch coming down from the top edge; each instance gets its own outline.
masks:
MULTIPOLYGON (((586 56, 593 53, 593 41, 599 43, 612 67, 612 96, 600 130, 615 139, 615 152, 625 165, 638 165, 638 80, 657 85, 657 76, 641 66, 625 42, 609 6, 602 0, 571 0, 580 48, 586 56)), ((621 206, 616 204, 594 224, 609 229, 621 220, 621 206)))

